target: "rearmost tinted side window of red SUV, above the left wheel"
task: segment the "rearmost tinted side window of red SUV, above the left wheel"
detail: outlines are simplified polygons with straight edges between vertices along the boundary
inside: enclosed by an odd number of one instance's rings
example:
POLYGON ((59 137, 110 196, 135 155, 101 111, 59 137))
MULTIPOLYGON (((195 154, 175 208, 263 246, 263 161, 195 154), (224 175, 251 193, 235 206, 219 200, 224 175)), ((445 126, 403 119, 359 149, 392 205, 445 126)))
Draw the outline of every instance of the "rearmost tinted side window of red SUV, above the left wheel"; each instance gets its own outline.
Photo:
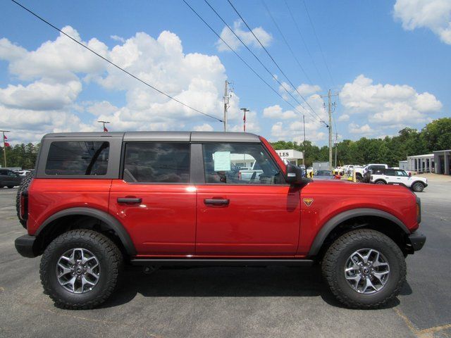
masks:
POLYGON ((51 142, 46 175, 106 175, 109 142, 51 142))

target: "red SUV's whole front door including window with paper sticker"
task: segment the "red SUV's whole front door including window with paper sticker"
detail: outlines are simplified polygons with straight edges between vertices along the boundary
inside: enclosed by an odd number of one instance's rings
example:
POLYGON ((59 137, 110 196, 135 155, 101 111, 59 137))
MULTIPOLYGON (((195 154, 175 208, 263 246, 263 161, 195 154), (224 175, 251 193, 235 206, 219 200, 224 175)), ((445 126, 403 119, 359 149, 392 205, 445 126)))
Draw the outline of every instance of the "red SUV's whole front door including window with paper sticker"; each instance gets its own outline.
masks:
POLYGON ((253 143, 209 143, 202 149, 205 184, 197 185, 196 255, 294 256, 299 188, 286 184, 266 149, 253 143))

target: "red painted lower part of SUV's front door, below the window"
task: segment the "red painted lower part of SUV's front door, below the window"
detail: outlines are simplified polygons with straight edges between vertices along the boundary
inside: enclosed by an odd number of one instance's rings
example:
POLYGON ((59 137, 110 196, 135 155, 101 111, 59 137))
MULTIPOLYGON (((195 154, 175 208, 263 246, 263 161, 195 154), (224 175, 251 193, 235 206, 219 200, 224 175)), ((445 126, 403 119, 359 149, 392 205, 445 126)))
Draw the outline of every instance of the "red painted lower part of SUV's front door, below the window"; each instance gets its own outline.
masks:
POLYGON ((287 186, 197 186, 196 255, 294 256, 299 189, 287 186), (211 206, 204 199, 229 199, 211 206))

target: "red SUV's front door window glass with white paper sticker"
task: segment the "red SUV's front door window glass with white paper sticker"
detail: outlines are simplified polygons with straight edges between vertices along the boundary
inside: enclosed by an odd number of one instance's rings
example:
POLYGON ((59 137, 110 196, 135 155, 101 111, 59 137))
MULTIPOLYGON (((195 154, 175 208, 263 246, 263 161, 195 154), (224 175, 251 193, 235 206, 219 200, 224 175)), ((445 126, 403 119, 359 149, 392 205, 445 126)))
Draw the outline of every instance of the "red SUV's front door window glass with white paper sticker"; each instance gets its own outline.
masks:
POLYGON ((261 144, 204 144, 205 182, 285 184, 283 174, 261 144), (238 164, 251 163, 251 167, 238 164))

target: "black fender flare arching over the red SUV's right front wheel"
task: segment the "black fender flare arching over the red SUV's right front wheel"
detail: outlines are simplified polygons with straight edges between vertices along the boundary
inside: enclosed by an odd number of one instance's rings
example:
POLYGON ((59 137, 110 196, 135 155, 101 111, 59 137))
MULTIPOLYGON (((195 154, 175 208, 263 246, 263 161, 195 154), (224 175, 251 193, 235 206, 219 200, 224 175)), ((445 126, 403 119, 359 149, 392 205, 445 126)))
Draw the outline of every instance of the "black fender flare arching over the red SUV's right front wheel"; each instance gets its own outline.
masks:
POLYGON ((356 208, 348 211, 343 211, 342 213, 333 216, 333 218, 330 218, 330 220, 328 220, 323 225, 323 227, 321 227, 321 230, 319 230, 318 234, 316 234, 314 242, 311 244, 308 256, 316 256, 319 253, 321 246, 323 246, 323 242, 328 237, 328 234, 330 234, 330 232, 335 229, 335 227, 337 227, 340 223, 345 220, 350 220, 351 218, 361 216, 377 216, 380 218, 385 218, 386 220, 390 220, 395 223, 406 234, 410 234, 409 229, 407 229, 406 225, 404 225, 404 223, 402 223, 399 218, 395 217, 391 213, 373 208, 356 208))

